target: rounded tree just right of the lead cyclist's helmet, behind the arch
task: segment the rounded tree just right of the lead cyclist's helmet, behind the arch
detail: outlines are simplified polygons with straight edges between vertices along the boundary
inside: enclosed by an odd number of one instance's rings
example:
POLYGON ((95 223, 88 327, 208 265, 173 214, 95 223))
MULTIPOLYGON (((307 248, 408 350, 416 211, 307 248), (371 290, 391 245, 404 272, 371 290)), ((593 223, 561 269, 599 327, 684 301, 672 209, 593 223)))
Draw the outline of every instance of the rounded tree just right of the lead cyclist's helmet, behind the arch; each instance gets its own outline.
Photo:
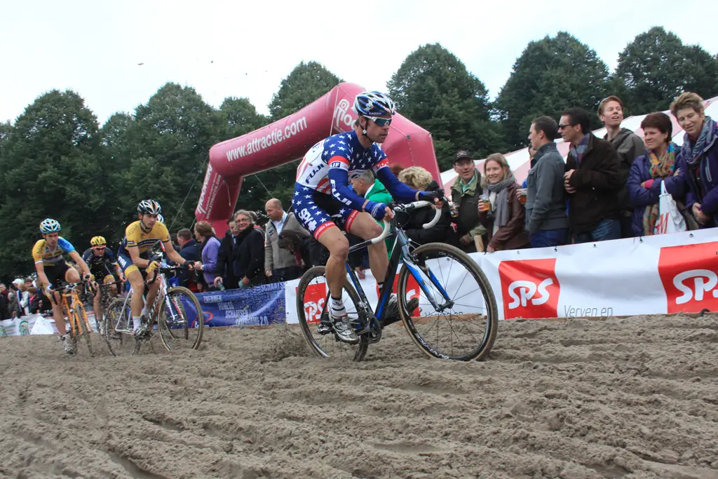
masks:
POLYGON ((411 52, 387 86, 398 111, 431 132, 442 169, 457 149, 480 156, 500 148, 485 85, 438 43, 411 52))

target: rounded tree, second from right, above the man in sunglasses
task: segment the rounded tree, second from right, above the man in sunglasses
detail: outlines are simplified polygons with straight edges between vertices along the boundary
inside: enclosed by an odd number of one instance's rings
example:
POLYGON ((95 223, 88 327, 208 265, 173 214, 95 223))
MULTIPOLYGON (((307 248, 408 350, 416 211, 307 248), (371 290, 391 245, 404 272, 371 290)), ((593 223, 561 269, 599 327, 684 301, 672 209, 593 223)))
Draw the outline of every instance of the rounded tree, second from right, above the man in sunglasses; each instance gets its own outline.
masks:
MULTIPOLYGON (((526 146, 528 128, 537 116, 558 120, 561 111, 574 106, 597 111, 608 76, 595 50, 567 32, 529 42, 496 98, 495 113, 504 138, 518 149, 526 146)), ((592 126, 600 126, 596 115, 592 126)))

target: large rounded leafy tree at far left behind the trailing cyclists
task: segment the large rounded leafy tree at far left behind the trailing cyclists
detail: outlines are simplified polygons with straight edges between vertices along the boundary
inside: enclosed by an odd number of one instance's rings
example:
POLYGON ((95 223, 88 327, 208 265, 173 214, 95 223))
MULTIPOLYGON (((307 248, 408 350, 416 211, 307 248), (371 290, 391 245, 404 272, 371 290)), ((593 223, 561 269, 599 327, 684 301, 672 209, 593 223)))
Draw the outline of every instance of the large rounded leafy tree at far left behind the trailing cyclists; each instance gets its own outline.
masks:
POLYGON ((45 218, 60 221, 78 249, 104 233, 111 197, 97 118, 83 98, 70 90, 39 96, 2 144, 0 271, 32 271, 30 250, 45 218))

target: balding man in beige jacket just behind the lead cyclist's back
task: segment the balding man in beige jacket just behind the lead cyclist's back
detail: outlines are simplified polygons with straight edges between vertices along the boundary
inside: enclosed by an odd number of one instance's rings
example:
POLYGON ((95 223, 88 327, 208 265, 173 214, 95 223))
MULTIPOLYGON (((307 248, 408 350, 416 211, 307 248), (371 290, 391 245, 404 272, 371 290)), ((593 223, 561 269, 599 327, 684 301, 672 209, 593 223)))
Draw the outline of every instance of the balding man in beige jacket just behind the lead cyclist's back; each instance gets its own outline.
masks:
POLYGON ((264 274, 271 282, 283 282, 302 276, 298 243, 309 238, 294 213, 286 213, 276 198, 264 205, 269 222, 264 227, 264 274))

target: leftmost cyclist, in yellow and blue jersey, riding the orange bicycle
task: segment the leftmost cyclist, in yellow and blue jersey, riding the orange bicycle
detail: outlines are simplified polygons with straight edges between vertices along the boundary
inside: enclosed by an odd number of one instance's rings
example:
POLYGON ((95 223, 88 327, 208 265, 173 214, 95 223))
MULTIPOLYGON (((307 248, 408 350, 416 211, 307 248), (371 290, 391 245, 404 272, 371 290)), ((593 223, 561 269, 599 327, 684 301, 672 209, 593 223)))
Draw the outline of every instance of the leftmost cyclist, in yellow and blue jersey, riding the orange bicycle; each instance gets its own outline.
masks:
POLYGON ((90 269, 83 261, 82 256, 75 251, 72 243, 60 236, 61 229, 60 223, 50 218, 40 223, 42 239, 32 247, 32 259, 35 261, 37 281, 41 285, 39 290, 52 303, 52 316, 55 318, 57 332, 60 332, 60 339, 65 348, 65 353, 73 354, 75 349, 73 342, 67 338, 65 316, 62 314, 62 306, 60 305, 60 293, 53 292, 51 288, 60 287, 60 282, 62 281, 67 283, 80 282, 80 274, 65 262, 65 258, 62 256, 64 254, 70 255, 70 258, 80 266, 85 281, 90 280, 90 269))

